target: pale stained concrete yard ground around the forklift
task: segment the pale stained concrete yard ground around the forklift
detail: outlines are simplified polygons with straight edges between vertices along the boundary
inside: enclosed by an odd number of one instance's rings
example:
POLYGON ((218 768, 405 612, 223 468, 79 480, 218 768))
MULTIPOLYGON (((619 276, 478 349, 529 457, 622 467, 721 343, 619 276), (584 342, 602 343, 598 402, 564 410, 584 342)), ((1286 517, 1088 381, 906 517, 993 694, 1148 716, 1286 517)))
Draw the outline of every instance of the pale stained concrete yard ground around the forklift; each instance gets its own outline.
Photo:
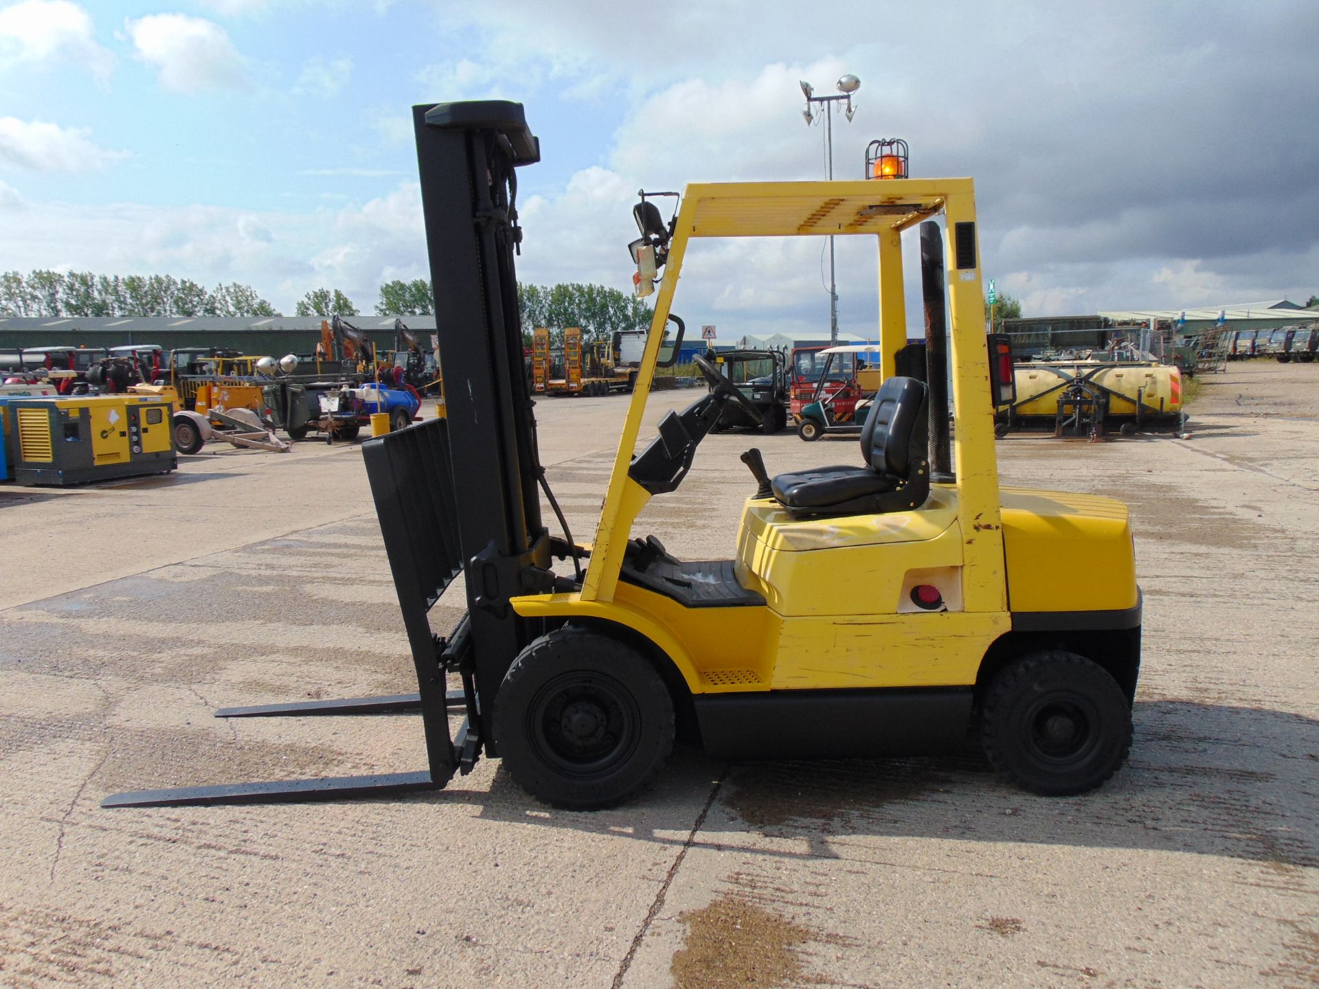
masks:
MULTIPOLYGON (((538 405, 579 538, 623 409, 538 405)), ((211 716, 414 688, 360 452, 207 447, 162 479, 0 488, 0 984, 1319 984, 1319 365, 1231 365, 1192 418, 1188 440, 998 444, 1005 483, 1134 517, 1136 744, 1075 799, 973 756, 687 752, 598 814, 534 803, 497 761, 398 800, 102 810, 423 767, 414 717, 211 716)), ((638 530, 731 555, 752 443, 772 472, 857 456, 711 436, 638 530)))

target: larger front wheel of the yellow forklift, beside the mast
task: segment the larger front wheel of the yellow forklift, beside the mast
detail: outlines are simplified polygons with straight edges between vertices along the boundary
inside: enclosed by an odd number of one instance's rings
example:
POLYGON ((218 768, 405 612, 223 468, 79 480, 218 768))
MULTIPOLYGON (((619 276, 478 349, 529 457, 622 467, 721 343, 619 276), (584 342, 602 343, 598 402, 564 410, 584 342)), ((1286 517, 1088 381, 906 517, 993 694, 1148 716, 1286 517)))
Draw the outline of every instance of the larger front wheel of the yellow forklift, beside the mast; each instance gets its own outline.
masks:
POLYGON ((495 698, 495 738, 513 779, 572 811, 641 793, 673 752, 669 690, 636 649, 565 626, 521 651, 495 698))

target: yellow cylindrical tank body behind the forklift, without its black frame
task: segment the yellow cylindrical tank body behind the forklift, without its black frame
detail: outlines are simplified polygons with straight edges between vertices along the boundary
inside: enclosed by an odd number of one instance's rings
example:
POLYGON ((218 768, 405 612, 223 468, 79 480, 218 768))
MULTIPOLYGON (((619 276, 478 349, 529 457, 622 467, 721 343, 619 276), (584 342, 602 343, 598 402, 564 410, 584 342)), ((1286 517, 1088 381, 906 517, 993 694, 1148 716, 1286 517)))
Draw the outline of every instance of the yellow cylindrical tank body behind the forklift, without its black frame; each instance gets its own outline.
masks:
MULTIPOLYGON (((1155 361, 1030 361, 1013 369, 1017 401, 1014 419, 1058 415, 1058 400, 1074 382, 1100 389, 1108 396, 1109 418, 1177 419, 1182 411, 1182 372, 1155 361), (1137 406, 1140 409, 1137 410, 1137 406)), ((1006 409, 1000 409, 1005 413, 1006 409)), ((1070 405, 1063 406, 1071 414, 1070 405)))

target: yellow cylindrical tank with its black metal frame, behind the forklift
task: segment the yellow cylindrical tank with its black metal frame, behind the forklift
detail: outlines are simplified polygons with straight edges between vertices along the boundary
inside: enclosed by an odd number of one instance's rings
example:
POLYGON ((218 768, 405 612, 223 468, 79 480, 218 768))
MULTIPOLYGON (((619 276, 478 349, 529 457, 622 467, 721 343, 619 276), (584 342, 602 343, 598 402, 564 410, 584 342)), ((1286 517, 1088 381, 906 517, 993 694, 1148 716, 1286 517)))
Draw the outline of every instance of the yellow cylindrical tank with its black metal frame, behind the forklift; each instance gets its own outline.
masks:
POLYGON ((996 431, 1053 427, 1054 435, 1088 433, 1099 439, 1113 426, 1179 429, 1182 372, 1158 361, 1037 360, 1013 369, 1017 398, 996 414, 996 431))

